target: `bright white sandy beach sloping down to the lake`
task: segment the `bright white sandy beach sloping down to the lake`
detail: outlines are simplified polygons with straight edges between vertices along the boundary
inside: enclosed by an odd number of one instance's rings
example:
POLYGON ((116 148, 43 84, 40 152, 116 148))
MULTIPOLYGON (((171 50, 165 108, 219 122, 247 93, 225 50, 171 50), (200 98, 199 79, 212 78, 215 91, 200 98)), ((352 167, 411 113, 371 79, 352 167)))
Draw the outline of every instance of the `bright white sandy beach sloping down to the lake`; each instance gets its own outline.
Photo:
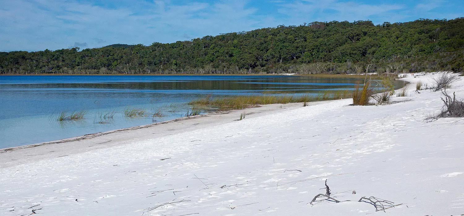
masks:
MULTIPOLYGON (((392 105, 237 112, 1 153, 0 215, 461 215, 464 120, 423 121, 442 105, 439 92, 413 92, 431 76, 404 78, 412 101, 392 105), (79 149, 88 142, 103 144, 79 149), (402 205, 310 205, 325 179, 339 200, 402 205)), ((464 98, 464 80, 450 91, 464 98)))

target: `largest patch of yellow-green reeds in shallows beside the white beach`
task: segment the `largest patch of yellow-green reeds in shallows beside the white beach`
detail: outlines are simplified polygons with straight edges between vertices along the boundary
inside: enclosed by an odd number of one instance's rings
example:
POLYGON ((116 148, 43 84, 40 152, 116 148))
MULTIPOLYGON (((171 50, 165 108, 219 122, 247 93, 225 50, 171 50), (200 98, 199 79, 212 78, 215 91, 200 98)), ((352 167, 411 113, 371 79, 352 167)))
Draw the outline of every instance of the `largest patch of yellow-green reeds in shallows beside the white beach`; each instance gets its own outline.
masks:
POLYGON ((309 95, 303 96, 274 96, 274 95, 260 95, 260 96, 235 96, 211 99, 207 96, 203 99, 194 100, 189 105, 202 105, 209 106, 219 110, 240 110, 256 105, 266 104, 288 104, 288 103, 303 103, 309 101, 315 101, 314 97, 309 95))

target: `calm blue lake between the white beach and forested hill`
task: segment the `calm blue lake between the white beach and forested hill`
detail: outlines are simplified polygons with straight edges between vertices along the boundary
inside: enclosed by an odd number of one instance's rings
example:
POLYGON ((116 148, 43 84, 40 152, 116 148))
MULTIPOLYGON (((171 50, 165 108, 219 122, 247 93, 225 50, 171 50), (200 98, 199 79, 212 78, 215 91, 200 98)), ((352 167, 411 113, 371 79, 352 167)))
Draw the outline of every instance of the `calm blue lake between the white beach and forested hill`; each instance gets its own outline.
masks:
POLYGON ((318 94, 352 90, 357 79, 285 75, 41 75, 0 76, 0 148, 48 142, 184 117, 188 102, 259 94, 318 94), (146 117, 124 117, 126 109, 146 117), (84 119, 57 121, 61 112, 84 119), (152 117, 161 111, 163 117, 152 117), (106 113, 113 119, 104 119, 106 113))

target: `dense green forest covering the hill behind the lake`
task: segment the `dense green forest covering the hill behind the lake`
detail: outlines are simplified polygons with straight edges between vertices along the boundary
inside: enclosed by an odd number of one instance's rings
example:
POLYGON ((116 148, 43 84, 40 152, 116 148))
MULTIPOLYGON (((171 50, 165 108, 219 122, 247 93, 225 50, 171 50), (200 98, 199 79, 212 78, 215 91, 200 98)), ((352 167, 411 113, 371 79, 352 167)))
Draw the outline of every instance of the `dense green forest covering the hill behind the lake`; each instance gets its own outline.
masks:
POLYGON ((176 43, 0 52, 0 74, 464 71, 464 18, 313 22, 176 43))

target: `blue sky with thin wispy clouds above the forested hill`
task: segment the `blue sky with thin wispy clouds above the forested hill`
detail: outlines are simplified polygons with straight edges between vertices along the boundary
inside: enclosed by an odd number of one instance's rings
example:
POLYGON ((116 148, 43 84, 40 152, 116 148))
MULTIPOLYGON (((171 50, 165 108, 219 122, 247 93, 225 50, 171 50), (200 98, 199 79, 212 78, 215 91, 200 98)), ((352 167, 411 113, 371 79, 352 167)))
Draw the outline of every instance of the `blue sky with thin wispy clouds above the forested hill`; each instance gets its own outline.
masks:
POLYGON ((173 43, 314 21, 464 17, 464 0, 0 0, 0 51, 173 43))

